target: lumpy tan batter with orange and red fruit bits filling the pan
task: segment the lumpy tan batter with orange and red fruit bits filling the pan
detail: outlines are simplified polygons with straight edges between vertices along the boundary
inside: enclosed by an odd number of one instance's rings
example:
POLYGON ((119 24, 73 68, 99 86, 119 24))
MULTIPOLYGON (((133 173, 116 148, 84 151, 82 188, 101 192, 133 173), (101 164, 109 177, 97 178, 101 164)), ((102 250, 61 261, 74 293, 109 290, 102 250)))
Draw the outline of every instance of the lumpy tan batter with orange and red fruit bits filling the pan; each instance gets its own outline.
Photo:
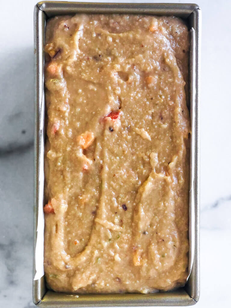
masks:
POLYGON ((48 21, 44 267, 53 290, 185 283, 188 50, 177 18, 48 21))

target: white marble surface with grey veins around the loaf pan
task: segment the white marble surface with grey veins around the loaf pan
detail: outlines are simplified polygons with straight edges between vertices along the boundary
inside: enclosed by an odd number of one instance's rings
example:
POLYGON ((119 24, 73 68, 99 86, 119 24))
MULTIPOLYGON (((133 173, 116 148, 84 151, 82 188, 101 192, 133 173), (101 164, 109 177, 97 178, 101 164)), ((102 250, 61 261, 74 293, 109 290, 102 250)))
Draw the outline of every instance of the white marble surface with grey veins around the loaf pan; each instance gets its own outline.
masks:
MULTIPOLYGON (((32 213, 35 3, 34 0, 2 1, 0 10, 0 307, 4 308, 34 307, 32 213)), ((231 1, 200 0, 198 4, 202 9, 203 21, 201 298, 197 307, 226 308, 230 307, 231 288, 231 1)))

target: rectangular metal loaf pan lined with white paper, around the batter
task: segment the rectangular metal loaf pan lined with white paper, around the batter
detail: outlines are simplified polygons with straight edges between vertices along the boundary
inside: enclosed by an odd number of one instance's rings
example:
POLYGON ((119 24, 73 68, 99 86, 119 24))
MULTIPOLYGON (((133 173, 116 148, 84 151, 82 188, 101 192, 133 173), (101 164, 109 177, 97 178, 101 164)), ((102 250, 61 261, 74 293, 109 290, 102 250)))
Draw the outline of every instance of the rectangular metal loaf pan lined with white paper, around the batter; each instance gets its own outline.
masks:
POLYGON ((201 10, 197 4, 39 2, 34 7, 34 273, 33 302, 39 307, 98 306, 190 306, 200 294, 199 269, 199 77, 201 10), (190 157, 189 261, 191 272, 184 287, 150 294, 66 294, 47 290, 43 269, 44 242, 44 36, 46 20, 55 15, 76 13, 150 14, 176 16, 186 20, 191 32, 190 115, 192 125, 190 157))

